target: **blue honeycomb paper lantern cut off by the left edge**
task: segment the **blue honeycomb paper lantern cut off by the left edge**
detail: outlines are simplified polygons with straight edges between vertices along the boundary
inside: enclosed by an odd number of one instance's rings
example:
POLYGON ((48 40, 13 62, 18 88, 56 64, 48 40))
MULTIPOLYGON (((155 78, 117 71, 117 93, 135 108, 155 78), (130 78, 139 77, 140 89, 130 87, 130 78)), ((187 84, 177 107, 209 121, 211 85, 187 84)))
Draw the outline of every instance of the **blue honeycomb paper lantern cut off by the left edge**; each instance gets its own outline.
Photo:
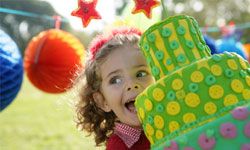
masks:
POLYGON ((0 30, 0 111, 16 97, 23 81, 23 61, 16 43, 0 30))

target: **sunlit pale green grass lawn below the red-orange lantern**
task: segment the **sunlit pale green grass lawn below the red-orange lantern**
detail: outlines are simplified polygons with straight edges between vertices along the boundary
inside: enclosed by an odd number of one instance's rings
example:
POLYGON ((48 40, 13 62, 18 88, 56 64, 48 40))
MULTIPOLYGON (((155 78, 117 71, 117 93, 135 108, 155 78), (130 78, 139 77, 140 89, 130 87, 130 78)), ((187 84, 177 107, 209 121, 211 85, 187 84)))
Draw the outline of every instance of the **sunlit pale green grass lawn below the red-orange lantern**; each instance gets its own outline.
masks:
POLYGON ((18 96, 0 113, 0 149, 104 149, 76 129, 70 97, 44 93, 24 78, 18 96))

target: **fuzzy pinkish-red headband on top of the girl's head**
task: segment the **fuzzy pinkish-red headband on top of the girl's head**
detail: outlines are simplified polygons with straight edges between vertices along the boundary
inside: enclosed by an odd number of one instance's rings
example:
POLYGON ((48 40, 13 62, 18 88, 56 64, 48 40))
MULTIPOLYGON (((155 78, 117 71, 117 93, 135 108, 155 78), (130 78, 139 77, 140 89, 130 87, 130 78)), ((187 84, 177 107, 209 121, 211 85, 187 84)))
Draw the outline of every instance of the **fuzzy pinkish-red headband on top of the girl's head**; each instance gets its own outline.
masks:
POLYGON ((91 53, 91 60, 95 58, 95 55, 100 50, 100 48, 117 34, 122 34, 122 35, 136 34, 136 35, 141 36, 142 33, 136 28, 122 27, 122 28, 117 28, 117 29, 112 30, 108 34, 108 36, 99 35, 95 37, 89 46, 89 51, 91 53))

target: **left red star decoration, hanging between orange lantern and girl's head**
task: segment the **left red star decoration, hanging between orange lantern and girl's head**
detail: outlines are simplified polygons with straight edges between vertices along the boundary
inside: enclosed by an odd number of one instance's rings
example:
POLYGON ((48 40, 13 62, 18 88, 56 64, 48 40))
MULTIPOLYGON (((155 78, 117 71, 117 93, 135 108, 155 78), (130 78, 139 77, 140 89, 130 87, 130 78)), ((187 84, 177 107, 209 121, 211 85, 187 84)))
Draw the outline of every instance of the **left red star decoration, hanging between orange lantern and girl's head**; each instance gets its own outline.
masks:
POLYGON ((85 0, 78 0, 78 8, 74 10, 71 15, 82 19, 82 24, 87 27, 91 19, 101 19, 101 16, 96 11, 97 0, 87 2, 85 0))

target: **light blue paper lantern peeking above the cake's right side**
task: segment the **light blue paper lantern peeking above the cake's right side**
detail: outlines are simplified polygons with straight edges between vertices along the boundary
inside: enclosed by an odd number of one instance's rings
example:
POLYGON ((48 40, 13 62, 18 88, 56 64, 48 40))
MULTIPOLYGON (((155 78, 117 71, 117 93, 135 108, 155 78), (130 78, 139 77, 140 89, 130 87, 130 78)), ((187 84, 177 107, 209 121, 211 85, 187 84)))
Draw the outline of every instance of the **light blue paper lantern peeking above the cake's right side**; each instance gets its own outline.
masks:
POLYGON ((218 47, 218 53, 235 52, 244 59, 247 59, 247 55, 244 51, 243 45, 240 42, 235 41, 233 38, 224 38, 216 41, 218 47))

